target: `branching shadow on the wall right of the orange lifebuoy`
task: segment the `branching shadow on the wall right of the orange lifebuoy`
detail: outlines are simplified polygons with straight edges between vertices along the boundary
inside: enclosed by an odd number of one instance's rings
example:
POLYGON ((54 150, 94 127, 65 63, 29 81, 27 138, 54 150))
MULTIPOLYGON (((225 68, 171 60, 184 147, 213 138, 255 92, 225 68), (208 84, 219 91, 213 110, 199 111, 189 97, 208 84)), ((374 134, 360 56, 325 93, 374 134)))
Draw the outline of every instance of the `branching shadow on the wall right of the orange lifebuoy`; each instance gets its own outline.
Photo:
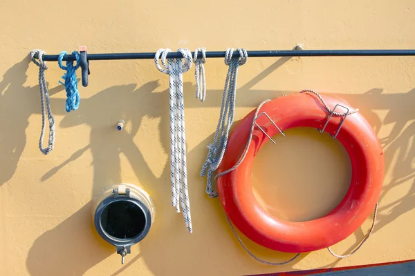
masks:
POLYGON ((415 89, 402 94, 383 94, 382 89, 372 89, 363 95, 340 95, 353 106, 365 106, 360 108, 360 112, 368 119, 376 133, 382 125, 393 124, 390 134, 380 139, 382 148, 385 152, 385 172, 391 172, 391 180, 385 182, 382 194, 379 199, 378 223, 374 233, 383 226, 394 221, 400 215, 407 213, 415 208, 415 172, 412 164, 415 160, 415 112, 413 103, 415 101, 415 89), (383 121, 373 110, 389 110, 383 121), (412 121, 409 126, 406 126, 412 121), (391 168, 391 166, 394 166, 391 168), (412 181, 412 186, 408 193, 387 205, 382 205, 388 193, 398 188, 400 184, 412 181))

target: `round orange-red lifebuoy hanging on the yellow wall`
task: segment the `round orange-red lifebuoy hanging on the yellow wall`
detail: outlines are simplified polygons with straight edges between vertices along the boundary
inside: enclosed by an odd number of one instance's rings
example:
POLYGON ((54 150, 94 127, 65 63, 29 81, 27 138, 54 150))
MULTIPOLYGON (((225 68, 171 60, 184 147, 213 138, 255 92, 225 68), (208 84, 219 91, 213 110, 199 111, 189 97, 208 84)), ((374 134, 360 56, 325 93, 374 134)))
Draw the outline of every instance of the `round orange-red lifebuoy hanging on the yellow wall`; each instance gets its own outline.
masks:
MULTIPOLYGON (((341 103, 332 97, 322 97, 330 108, 341 103)), ((350 108, 352 109, 352 108, 350 108)), ((289 253, 302 253, 326 248, 351 235, 369 217, 380 196, 385 170, 382 146, 366 119, 359 113, 343 117, 329 117, 330 113, 321 101, 308 93, 279 97, 265 103, 261 112, 266 114, 282 130, 295 127, 322 129, 332 135, 346 148, 352 167, 349 190, 340 204, 330 213, 311 221, 284 221, 268 214, 252 192, 250 173, 257 152, 268 137, 279 133, 267 117, 256 120, 264 132, 254 128, 250 147, 238 168, 221 175, 216 180, 221 203, 232 223, 252 241, 289 253)), ((239 161, 250 135, 252 110, 234 128, 228 139, 225 155, 218 168, 220 174, 239 161)), ((301 168, 299 168, 301 170, 301 168)))

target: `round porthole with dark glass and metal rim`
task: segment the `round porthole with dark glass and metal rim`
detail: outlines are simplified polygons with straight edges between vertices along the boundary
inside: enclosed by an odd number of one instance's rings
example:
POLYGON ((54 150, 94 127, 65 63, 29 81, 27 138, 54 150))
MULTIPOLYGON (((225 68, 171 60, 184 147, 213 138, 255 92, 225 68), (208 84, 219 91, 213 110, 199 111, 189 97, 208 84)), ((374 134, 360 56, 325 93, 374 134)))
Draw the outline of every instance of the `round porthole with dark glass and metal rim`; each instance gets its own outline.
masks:
POLYGON ((98 234, 116 246, 124 264, 124 257, 131 253, 131 246, 149 233, 156 210, 142 188, 132 184, 116 184, 95 197, 92 215, 98 234))

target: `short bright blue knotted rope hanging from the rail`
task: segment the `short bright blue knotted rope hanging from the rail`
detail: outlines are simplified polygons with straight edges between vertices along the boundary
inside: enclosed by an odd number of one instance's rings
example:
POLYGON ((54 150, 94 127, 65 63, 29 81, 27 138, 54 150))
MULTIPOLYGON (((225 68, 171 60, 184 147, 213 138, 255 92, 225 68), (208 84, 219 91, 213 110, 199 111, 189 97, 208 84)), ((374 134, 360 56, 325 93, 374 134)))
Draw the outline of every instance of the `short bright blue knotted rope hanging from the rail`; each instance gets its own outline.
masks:
POLYGON ((66 112, 70 112, 71 110, 77 110, 80 106, 80 93, 77 90, 77 79, 75 70, 80 68, 80 54, 77 51, 73 51, 72 55, 75 55, 76 65, 73 66, 73 61, 66 61, 66 66, 62 64, 64 56, 68 55, 68 52, 61 52, 59 54, 59 58, 57 60, 57 64, 63 70, 66 70, 66 73, 62 76, 65 83, 59 81, 59 83, 65 86, 66 90, 66 112))

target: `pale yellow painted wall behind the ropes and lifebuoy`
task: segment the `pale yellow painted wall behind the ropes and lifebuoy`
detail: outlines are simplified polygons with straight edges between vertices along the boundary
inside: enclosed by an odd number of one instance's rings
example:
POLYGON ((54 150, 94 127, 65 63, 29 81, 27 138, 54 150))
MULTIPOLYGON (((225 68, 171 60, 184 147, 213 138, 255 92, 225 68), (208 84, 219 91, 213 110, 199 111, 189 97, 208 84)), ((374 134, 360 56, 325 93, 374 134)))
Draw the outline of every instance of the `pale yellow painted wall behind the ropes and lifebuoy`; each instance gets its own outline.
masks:
MULTIPOLYGON (((360 108, 385 149, 385 184, 369 242, 349 259, 320 250, 281 267, 259 264, 242 250, 219 200, 208 199, 198 176, 219 115, 227 71, 222 59, 206 63, 205 103, 194 98, 193 69, 184 76, 192 235, 170 206, 168 77, 154 61, 91 61, 90 85, 80 85, 80 108, 70 113, 57 82, 63 71, 49 62, 57 135, 53 152, 42 155, 38 68, 28 59, 33 48, 57 54, 79 45, 89 53, 289 50, 297 43, 306 49, 415 48, 414 12, 410 0, 1 1, 1 275, 246 275, 414 259, 413 57, 249 58, 240 68, 237 120, 264 99, 311 88, 360 108), (122 132, 114 128, 119 119, 127 121, 122 132), (91 199, 120 181, 145 188, 157 211, 154 227, 124 266, 91 221, 91 199)), ((255 191, 277 217, 324 215, 347 190, 347 155, 317 130, 287 131, 255 162, 255 191)), ((370 222, 335 251, 356 246, 370 222)), ((243 240, 269 261, 292 256, 243 240)))

